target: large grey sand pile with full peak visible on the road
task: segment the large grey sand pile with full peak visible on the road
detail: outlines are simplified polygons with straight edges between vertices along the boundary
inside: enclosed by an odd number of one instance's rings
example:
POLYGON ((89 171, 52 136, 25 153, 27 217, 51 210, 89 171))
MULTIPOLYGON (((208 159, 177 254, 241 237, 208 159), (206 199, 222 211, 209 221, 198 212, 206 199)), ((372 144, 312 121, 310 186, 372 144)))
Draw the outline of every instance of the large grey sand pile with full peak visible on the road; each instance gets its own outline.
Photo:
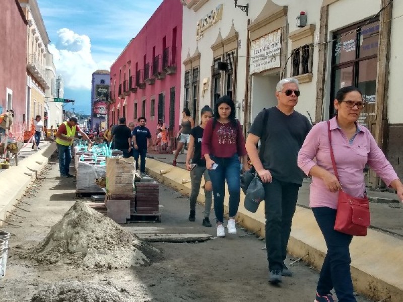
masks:
POLYGON ((150 264, 158 250, 77 201, 36 247, 22 254, 40 263, 113 269, 150 264))

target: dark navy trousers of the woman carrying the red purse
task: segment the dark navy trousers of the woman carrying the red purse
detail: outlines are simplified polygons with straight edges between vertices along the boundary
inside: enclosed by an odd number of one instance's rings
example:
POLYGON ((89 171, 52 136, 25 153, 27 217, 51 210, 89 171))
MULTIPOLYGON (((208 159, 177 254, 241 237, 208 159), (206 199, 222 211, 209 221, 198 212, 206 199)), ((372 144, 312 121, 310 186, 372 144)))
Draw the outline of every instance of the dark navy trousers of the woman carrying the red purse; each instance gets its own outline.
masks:
POLYGON ((312 211, 327 247, 317 292, 325 295, 330 293, 334 287, 339 302, 356 302, 350 272, 349 246, 353 236, 334 231, 337 210, 328 207, 314 207, 312 211))

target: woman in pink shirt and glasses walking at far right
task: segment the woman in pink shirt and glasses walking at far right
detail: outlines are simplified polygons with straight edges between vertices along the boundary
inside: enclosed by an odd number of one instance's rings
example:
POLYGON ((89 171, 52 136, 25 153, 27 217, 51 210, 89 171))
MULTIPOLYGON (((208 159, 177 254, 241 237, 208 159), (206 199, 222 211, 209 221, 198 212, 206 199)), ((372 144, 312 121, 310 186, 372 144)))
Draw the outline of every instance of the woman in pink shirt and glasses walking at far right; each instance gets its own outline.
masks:
POLYGON ((403 201, 403 185, 392 166, 371 132, 357 123, 364 106, 358 88, 349 86, 340 89, 334 100, 337 115, 329 122, 313 126, 298 155, 298 166, 306 175, 312 176, 309 204, 327 247, 317 284, 316 302, 334 301, 330 293, 332 288, 339 302, 356 301, 350 272, 349 246, 353 236, 334 230, 339 192, 343 190, 353 197, 363 198, 366 195, 363 170, 369 165, 388 187, 397 191, 399 200, 403 201), (339 179, 333 170, 330 148, 339 179))

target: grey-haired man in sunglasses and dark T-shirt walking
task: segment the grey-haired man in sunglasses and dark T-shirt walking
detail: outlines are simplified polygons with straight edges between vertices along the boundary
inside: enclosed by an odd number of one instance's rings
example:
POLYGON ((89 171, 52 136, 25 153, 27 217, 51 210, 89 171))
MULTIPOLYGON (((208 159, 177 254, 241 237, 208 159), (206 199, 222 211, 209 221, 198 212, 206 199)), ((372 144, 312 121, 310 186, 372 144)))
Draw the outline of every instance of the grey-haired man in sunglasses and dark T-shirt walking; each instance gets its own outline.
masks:
POLYGON ((297 157, 311 129, 308 119, 294 110, 300 95, 298 84, 296 79, 284 79, 277 84, 278 105, 256 116, 246 139, 246 150, 265 191, 266 250, 269 281, 273 284, 282 282, 282 276, 292 276, 284 260, 302 186, 297 157), (260 139, 258 154, 256 145, 260 139))

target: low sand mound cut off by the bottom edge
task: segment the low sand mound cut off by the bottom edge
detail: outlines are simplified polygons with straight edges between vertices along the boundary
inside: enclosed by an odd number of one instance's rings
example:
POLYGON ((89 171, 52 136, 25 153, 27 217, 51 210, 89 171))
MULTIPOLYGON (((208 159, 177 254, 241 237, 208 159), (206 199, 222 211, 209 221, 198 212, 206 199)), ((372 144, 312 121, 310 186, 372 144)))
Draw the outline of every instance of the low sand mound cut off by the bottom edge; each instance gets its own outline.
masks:
POLYGON ((39 290, 31 302, 136 302, 127 290, 91 282, 60 281, 39 290))

